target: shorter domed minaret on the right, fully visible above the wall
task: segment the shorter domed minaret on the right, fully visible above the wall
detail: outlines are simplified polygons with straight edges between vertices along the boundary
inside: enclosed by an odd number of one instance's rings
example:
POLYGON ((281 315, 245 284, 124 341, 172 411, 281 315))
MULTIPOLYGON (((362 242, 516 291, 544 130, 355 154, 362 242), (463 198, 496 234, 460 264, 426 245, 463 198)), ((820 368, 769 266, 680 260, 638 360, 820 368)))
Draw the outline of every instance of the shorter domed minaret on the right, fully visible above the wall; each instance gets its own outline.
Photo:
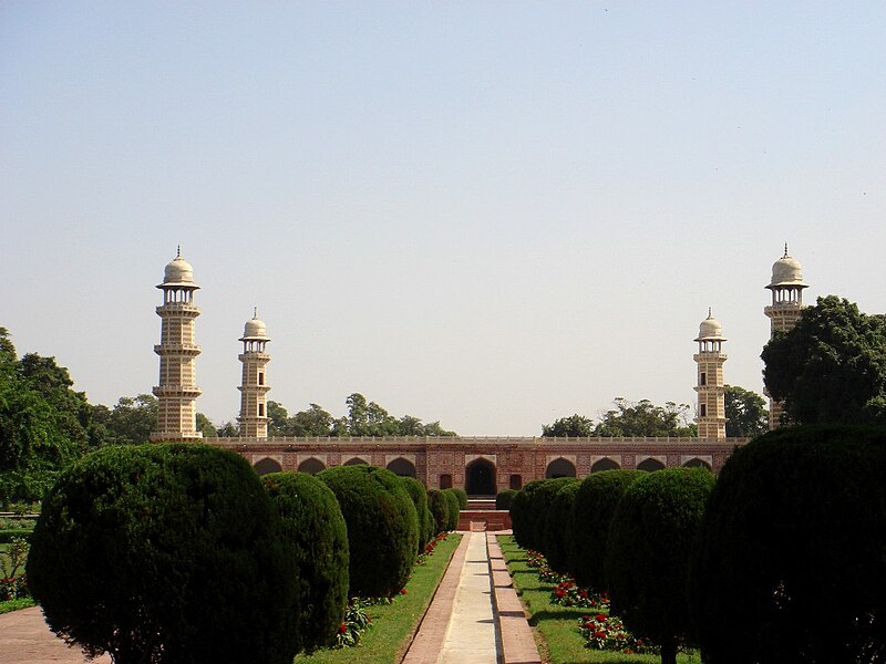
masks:
POLYGON ((727 437, 725 383, 723 382, 723 363, 727 354, 722 352, 723 326, 711 315, 699 325, 699 352, 693 355, 698 364, 699 414, 696 423, 699 426, 699 438, 724 439, 727 437))

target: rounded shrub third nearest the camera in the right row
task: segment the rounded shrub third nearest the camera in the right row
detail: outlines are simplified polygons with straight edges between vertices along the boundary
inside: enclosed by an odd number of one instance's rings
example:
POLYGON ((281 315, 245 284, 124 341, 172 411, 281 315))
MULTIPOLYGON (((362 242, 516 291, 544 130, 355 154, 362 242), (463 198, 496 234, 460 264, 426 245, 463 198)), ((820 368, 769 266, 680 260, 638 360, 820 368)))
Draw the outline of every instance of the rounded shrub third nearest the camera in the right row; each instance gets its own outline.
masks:
POLYGON ((597 592, 609 588, 606 550, 612 515, 628 485, 642 476, 642 470, 601 470, 581 480, 566 539, 568 566, 579 585, 597 592))

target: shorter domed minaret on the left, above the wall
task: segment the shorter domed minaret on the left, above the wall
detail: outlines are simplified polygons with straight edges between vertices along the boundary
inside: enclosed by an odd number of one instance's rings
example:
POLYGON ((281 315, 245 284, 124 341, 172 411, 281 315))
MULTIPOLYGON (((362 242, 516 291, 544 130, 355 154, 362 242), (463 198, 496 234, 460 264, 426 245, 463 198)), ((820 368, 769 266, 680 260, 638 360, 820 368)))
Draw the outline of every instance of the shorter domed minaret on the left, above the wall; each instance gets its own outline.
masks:
POLYGON ((266 397, 268 394, 266 381, 266 365, 270 355, 265 352, 268 339, 265 323, 258 320, 258 311, 254 312, 253 320, 246 322, 243 336, 243 384, 240 391, 240 436, 248 438, 268 437, 268 412, 266 397))

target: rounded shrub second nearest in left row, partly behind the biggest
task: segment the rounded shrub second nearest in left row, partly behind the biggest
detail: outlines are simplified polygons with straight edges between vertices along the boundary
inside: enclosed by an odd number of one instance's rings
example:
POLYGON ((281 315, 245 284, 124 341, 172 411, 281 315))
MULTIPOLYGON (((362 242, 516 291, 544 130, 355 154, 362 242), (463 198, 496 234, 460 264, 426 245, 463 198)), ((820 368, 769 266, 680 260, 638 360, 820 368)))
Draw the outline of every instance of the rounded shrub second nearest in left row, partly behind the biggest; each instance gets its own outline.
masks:
POLYGON ((261 478, 277 505, 301 595, 299 650, 332 645, 348 605, 348 529, 339 501, 305 473, 261 478))

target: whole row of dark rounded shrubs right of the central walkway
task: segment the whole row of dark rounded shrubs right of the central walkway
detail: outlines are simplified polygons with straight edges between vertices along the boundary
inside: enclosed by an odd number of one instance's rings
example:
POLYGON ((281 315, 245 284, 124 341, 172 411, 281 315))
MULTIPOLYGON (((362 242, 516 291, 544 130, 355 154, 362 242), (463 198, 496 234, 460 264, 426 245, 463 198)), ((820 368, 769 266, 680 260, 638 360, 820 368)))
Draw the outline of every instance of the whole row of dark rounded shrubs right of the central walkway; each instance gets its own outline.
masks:
POLYGON ((511 516, 517 543, 608 591, 664 663, 681 643, 708 664, 879 662, 884 476, 883 427, 795 427, 736 450, 719 480, 699 468, 538 480, 511 516))

